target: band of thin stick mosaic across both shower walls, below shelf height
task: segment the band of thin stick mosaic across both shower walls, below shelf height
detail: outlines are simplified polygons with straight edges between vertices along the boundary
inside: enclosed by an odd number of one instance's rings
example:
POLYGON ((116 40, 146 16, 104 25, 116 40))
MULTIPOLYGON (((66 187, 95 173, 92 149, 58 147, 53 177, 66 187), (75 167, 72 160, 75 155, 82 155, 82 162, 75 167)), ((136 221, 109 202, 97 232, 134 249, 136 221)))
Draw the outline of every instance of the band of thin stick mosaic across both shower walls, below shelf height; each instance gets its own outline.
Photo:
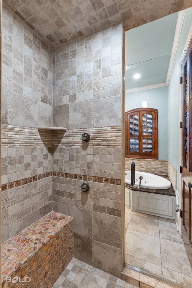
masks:
POLYGON ((86 129, 51 131, 31 127, 3 125, 1 132, 2 146, 62 146, 81 147, 121 147, 121 127, 91 128, 91 141, 82 143, 81 135, 86 129))

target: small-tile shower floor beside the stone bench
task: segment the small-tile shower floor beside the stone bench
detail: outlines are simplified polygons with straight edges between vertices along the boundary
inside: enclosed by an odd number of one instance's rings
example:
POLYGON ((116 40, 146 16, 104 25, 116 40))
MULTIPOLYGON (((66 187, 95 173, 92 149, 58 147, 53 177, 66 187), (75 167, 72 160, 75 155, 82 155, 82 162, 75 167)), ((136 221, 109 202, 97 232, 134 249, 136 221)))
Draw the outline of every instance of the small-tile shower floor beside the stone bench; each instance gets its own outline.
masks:
POLYGON ((137 288, 73 258, 52 288, 137 288))

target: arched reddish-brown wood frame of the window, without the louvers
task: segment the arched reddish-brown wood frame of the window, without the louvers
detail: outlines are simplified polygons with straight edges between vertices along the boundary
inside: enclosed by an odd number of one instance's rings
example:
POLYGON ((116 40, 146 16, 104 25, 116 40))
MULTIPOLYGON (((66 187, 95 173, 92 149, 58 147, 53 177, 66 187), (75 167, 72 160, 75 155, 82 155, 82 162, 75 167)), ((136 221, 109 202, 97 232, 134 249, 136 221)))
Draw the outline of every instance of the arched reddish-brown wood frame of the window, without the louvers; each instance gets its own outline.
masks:
MULTIPOLYGON (((147 135, 146 135, 147 136, 147 135)), ((150 135, 151 136, 151 135, 150 135)), ((158 159, 158 110, 154 108, 137 108, 125 113, 125 158, 136 159, 158 159), (152 152, 142 151, 142 114, 152 114, 152 152), (131 115, 139 115, 139 152, 129 150, 130 134, 129 134, 129 118, 131 115)))

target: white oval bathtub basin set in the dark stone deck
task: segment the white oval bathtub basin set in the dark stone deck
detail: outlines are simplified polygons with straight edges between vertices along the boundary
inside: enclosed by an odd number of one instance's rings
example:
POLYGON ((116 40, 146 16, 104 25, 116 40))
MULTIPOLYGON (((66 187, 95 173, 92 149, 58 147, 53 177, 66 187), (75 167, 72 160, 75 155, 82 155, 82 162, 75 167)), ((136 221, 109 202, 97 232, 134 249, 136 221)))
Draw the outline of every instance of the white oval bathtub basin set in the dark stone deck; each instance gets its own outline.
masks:
MULTIPOLYGON (((125 183, 131 185, 131 171, 125 171, 125 183)), ((139 177, 142 176, 141 187, 148 189, 168 189, 171 182, 164 177, 146 172, 135 171, 135 186, 139 186, 139 177)))

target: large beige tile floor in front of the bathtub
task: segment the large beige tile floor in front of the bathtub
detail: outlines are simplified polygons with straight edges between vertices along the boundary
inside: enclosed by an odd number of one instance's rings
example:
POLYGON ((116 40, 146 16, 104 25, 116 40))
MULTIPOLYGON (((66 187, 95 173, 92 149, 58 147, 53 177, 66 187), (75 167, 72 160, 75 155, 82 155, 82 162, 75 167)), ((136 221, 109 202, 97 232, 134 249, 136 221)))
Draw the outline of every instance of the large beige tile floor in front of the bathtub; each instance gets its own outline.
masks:
POLYGON ((126 212, 126 263, 192 287, 192 270, 175 221, 131 211, 126 212))

